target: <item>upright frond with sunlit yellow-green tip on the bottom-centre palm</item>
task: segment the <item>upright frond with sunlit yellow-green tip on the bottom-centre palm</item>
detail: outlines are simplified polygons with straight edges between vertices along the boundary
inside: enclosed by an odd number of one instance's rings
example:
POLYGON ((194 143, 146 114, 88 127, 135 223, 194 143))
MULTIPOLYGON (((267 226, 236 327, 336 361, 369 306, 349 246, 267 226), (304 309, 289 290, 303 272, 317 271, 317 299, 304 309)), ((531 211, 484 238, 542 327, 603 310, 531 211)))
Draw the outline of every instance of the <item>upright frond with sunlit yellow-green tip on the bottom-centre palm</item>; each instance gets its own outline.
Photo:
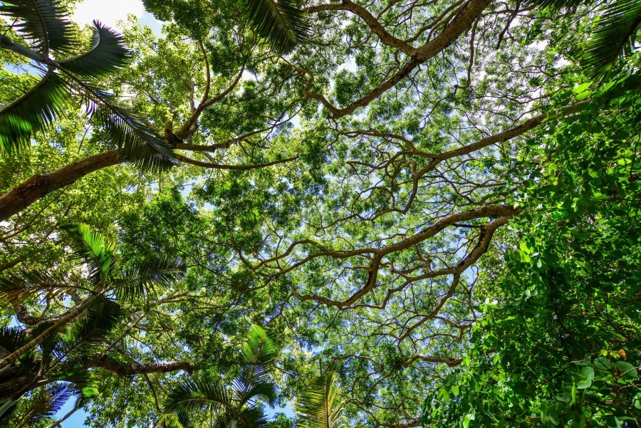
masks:
POLYGON ((241 390, 249 390, 252 385, 267 382, 277 356, 276 342, 264 329, 254 325, 240 355, 241 372, 237 381, 244 385, 241 390))

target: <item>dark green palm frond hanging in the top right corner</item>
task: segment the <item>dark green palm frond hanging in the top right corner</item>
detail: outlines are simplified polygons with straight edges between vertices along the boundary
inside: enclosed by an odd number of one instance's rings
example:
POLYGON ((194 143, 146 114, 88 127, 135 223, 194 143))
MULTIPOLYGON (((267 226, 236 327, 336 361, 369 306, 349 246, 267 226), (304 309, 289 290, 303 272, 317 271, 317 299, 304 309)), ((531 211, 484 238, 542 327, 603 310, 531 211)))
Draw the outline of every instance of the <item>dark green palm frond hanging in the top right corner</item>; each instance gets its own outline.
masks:
POLYGON ((591 77, 607 73, 617 58, 630 53, 641 24, 639 0, 617 0, 604 8, 582 54, 581 65, 591 77))

